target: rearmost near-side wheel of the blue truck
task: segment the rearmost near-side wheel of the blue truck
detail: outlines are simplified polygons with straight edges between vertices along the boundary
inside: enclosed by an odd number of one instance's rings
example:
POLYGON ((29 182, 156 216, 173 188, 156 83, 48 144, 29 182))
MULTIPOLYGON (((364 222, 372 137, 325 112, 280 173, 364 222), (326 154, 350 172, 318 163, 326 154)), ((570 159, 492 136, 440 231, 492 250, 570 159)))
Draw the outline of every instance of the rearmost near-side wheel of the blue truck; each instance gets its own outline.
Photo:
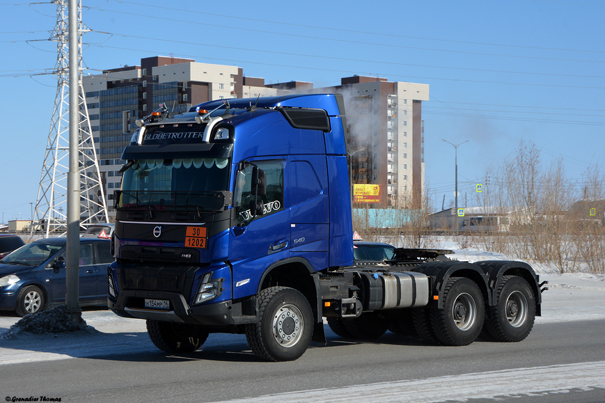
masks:
POLYGON ((535 297, 525 279, 502 276, 496 305, 486 315, 485 329, 496 341, 521 341, 528 337, 535 320, 535 297))

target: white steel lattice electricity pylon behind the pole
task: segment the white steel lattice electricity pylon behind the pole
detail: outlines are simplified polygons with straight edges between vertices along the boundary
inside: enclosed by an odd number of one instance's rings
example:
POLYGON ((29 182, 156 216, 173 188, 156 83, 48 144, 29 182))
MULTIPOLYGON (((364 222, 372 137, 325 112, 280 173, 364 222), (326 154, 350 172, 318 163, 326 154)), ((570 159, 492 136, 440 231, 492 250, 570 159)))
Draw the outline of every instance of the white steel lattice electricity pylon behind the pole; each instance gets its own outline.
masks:
MULTIPOLYGON (((46 236, 65 232, 69 172, 68 0, 53 0, 53 3, 57 5, 57 25, 50 40, 57 42, 57 93, 35 208, 39 225, 31 225, 32 232, 41 229, 46 236)), ((80 227, 86 228, 97 222, 108 222, 109 218, 82 85, 82 33, 90 30, 82 23, 81 0, 78 2, 77 14, 80 227)))

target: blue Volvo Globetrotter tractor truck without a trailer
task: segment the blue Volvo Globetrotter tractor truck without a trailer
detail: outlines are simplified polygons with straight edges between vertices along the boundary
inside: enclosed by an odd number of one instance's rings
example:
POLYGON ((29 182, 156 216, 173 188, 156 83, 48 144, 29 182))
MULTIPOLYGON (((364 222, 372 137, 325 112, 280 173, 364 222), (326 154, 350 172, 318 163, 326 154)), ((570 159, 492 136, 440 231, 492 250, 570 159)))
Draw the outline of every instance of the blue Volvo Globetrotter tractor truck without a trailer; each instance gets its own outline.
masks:
POLYGON ((108 305, 145 319, 159 349, 192 352, 227 332, 287 361, 325 343, 324 318, 342 337, 520 341, 540 315, 543 283, 523 262, 404 248, 353 262, 341 95, 162 106, 137 124, 115 195, 108 305))

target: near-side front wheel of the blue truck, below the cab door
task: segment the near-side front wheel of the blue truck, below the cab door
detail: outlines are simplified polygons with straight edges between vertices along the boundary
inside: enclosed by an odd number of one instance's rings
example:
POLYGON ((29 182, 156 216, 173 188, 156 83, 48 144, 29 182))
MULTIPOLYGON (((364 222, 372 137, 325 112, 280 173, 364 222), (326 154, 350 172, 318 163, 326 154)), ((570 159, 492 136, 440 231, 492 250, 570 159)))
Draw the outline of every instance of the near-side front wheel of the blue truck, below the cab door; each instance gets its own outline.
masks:
POLYGON ((257 323, 246 324, 246 339, 258 358, 292 361, 309 347, 313 312, 307 298, 295 289, 263 289, 258 294, 257 317, 257 323))

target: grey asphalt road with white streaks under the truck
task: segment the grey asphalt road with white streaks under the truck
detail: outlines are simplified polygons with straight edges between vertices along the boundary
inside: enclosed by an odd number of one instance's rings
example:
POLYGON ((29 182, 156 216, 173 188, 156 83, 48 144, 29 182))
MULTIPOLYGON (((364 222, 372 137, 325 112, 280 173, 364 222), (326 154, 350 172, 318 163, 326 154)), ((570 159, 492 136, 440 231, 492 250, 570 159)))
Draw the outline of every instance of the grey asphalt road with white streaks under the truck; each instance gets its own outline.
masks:
POLYGON ((0 401, 604 402, 604 329, 603 320, 537 324, 520 343, 465 347, 427 346, 390 332, 358 343, 329 332, 327 346, 313 343, 289 363, 258 361, 244 337, 223 347, 221 335, 211 335, 209 346, 185 356, 158 351, 0 366, 0 401))

